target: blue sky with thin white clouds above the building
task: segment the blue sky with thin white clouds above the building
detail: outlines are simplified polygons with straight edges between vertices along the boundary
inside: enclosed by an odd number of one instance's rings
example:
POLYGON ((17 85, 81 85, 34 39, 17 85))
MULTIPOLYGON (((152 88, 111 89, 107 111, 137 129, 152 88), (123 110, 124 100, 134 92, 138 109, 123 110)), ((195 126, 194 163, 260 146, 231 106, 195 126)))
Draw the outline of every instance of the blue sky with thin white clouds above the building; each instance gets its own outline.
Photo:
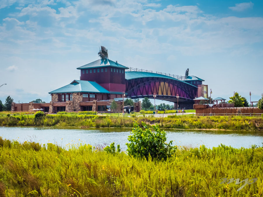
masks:
POLYGON ((101 45, 127 67, 189 68, 214 98, 263 93, 261 0, 0 0, 0 100, 50 102, 101 45))

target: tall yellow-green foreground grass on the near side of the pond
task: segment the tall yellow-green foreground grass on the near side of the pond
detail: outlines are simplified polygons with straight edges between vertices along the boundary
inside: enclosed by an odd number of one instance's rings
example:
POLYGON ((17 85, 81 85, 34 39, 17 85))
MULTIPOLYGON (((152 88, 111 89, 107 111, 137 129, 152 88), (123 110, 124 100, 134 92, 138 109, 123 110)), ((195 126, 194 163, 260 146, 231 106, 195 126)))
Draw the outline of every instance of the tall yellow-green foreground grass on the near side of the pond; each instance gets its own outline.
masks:
POLYGON ((0 138, 0 154, 0 196, 263 195, 262 147, 178 147, 155 161, 86 144, 65 149, 0 138))

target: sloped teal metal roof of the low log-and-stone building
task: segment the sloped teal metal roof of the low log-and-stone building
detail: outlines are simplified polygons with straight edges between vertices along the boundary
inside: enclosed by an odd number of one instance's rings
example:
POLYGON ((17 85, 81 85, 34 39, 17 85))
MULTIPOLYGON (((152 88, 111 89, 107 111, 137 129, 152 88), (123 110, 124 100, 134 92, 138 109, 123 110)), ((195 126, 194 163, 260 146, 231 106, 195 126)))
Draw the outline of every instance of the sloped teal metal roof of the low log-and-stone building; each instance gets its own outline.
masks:
POLYGON ((122 94, 122 92, 109 92, 98 83, 94 81, 74 80, 70 84, 49 92, 49 94, 58 93, 76 93, 76 92, 90 92, 90 93, 111 93, 122 94))

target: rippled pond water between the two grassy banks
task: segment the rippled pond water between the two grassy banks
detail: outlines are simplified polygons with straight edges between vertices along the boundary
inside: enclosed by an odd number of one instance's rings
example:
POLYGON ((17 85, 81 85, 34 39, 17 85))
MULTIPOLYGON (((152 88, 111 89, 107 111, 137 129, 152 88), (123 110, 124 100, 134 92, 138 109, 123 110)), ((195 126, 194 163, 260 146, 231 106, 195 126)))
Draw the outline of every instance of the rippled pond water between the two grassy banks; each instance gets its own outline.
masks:
MULTIPOLYGON (((204 144, 208 148, 225 144, 234 148, 249 148, 256 144, 262 146, 263 133, 253 131, 222 130, 173 130, 164 129, 167 141, 174 140, 173 145, 199 147, 204 144)), ((34 141, 42 144, 91 144, 106 146, 112 142, 120 144, 125 150, 131 128, 53 128, 53 127, 0 127, 0 136, 20 142, 34 141)))

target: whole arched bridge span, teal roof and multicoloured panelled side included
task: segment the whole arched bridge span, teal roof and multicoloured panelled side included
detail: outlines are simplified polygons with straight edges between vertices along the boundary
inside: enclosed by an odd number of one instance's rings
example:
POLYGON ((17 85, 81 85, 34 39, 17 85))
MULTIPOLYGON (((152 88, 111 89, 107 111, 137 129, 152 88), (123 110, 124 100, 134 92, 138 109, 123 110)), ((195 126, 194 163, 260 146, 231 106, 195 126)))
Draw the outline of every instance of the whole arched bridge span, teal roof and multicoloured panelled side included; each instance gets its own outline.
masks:
POLYGON ((130 98, 153 98, 177 103, 193 103, 197 87, 170 76, 151 72, 125 72, 126 92, 130 98))

